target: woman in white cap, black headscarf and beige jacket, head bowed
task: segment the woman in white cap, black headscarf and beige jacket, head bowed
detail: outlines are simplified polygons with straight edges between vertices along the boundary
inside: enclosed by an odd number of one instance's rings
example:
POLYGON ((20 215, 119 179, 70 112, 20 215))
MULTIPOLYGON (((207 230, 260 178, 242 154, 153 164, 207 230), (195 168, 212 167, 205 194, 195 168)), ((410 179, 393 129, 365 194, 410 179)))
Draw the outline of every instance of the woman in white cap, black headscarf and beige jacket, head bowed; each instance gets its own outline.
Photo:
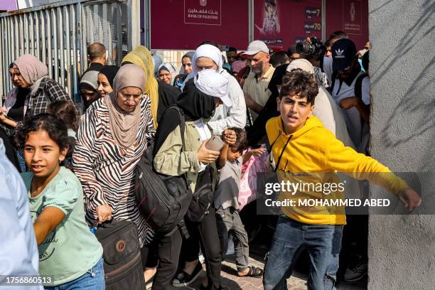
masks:
MULTIPOLYGON (((215 159, 219 151, 205 148, 205 144, 212 136, 207 126, 208 119, 213 116, 215 109, 225 104, 232 106, 227 95, 228 80, 214 70, 203 70, 190 79, 184 88, 183 94, 177 101, 177 106, 183 109, 186 127, 184 131, 185 148, 181 139, 178 114, 172 110, 163 114, 154 144, 154 168, 157 172, 168 176, 180 176, 186 173, 188 186, 193 193, 195 189, 210 186, 214 188, 216 181, 215 159)), ((235 134, 234 134, 235 137, 235 134)), ((225 141, 231 142, 230 137, 223 136, 225 141), (228 138, 228 139, 226 139, 228 138)), ((235 139, 233 140, 235 141, 235 139)), ((213 189, 212 195, 213 195, 213 189)), ((213 200, 209 201, 213 203, 213 200)), ((183 246, 183 256, 188 261, 184 271, 176 276, 174 286, 186 286, 198 277, 202 266, 198 262, 198 242, 201 244, 205 256, 208 279, 203 281, 201 289, 220 289, 220 245, 216 227, 215 210, 208 209, 203 213, 203 219, 186 220, 186 227, 190 237, 183 246), (191 269, 190 269, 191 268, 191 269), (190 271, 191 270, 191 271, 190 271)), ((168 289, 171 278, 178 266, 178 253, 181 249, 181 231, 159 240, 159 263, 153 289, 168 289), (168 252, 173 259, 168 260, 168 252), (168 264, 171 263, 172 267, 168 264)), ((183 242, 184 244, 184 242, 183 242)))

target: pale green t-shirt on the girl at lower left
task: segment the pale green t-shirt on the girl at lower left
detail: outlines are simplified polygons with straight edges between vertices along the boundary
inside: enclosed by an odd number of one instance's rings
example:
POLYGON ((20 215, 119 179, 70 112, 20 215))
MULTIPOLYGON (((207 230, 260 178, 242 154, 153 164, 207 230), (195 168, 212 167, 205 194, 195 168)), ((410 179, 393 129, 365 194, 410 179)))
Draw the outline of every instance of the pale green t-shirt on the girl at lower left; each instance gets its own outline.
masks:
POLYGON ((44 190, 31 198, 33 173, 26 172, 21 176, 28 190, 33 222, 48 206, 65 213, 62 222, 38 246, 39 273, 52 277, 52 283, 44 286, 58 286, 77 279, 102 257, 102 246, 85 222, 80 181, 69 169, 60 167, 44 190))

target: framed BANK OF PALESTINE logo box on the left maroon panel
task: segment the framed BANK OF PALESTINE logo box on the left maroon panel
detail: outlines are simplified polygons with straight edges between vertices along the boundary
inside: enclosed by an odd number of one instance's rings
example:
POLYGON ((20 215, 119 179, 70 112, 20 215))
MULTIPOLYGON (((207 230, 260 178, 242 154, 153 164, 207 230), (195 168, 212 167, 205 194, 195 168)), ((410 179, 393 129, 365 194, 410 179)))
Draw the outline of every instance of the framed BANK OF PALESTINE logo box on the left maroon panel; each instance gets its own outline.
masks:
POLYGON ((199 3, 198 0, 184 0, 184 23, 220 26, 221 6, 221 0, 210 3, 207 0, 199 3))

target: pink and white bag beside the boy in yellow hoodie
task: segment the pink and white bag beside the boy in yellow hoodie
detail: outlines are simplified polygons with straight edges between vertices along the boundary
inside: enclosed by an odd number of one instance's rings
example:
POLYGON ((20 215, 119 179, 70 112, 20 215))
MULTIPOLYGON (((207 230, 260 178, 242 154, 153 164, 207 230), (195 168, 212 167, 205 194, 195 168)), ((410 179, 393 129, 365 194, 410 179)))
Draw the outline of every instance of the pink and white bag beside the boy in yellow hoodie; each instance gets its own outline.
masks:
MULTIPOLYGON (((262 148, 266 145, 262 144, 262 148)), ((247 149, 243 154, 247 153, 250 149, 247 149)), ((239 209, 242 210, 245 205, 256 200, 258 198, 257 190, 257 173, 266 172, 267 152, 262 156, 251 158, 242 165, 242 178, 240 178, 239 187, 239 209)))

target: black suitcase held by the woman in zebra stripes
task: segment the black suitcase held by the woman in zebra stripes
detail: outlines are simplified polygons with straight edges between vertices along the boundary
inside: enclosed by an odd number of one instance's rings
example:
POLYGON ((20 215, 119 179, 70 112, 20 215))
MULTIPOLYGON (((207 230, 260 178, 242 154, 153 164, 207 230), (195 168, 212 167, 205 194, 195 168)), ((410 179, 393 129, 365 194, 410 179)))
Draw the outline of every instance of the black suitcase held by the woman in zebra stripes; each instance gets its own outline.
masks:
POLYGON ((106 289, 145 289, 136 224, 127 220, 104 222, 95 236, 103 247, 106 289))

